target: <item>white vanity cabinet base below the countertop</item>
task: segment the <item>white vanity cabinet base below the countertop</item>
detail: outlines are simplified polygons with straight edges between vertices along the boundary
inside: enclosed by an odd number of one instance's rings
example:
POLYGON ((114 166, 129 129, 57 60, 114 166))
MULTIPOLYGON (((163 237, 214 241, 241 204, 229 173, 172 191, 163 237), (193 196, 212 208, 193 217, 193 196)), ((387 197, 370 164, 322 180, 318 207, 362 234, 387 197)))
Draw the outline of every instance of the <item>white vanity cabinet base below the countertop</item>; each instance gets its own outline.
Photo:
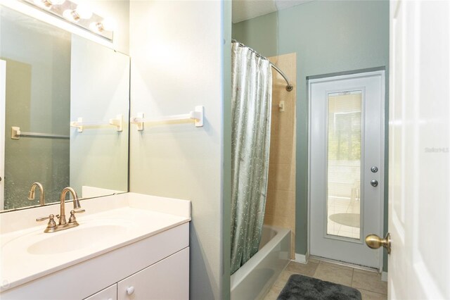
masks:
POLYGON ((189 223, 8 289, 0 298, 189 299, 189 223))

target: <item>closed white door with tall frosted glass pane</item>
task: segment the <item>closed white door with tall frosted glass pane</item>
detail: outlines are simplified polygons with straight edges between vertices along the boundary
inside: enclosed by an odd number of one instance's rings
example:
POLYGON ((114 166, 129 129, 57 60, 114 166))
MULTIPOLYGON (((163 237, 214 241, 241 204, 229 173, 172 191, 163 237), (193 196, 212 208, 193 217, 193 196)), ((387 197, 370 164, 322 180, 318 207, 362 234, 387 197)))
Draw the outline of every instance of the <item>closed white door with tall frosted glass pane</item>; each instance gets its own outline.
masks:
POLYGON ((309 254, 381 267, 384 71, 309 80, 309 254))

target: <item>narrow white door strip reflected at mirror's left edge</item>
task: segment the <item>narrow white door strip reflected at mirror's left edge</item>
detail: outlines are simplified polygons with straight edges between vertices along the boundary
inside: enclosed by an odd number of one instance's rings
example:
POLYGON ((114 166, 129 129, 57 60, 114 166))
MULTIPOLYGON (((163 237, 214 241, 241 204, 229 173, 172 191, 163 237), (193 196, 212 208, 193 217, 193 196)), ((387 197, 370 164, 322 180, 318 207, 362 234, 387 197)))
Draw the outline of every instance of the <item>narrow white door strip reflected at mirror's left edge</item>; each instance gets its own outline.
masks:
POLYGON ((0 210, 4 209, 5 192, 5 109, 6 61, 0 59, 0 210))

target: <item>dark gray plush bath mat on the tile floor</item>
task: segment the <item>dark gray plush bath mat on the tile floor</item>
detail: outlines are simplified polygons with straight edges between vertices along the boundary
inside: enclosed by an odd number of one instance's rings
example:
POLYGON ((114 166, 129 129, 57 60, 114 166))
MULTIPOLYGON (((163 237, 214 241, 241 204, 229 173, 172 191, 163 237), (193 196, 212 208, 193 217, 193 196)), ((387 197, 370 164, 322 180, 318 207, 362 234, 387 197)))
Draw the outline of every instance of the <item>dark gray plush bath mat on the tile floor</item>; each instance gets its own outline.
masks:
POLYGON ((353 287, 303 275, 290 275, 277 300, 361 300, 361 293, 353 287))

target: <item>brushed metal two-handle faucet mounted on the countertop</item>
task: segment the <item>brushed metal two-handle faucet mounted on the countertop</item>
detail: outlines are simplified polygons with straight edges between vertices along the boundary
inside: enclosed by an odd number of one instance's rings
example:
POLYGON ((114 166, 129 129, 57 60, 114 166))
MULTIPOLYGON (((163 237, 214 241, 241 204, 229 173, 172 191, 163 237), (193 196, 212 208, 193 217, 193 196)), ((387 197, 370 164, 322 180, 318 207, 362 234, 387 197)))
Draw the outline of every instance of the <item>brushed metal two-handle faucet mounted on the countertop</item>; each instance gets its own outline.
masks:
POLYGON ((56 222, 54 220, 55 215, 49 215, 48 217, 44 218, 37 218, 37 222, 47 220, 49 219, 49 223, 47 224, 46 229, 44 232, 57 232, 60 230, 69 229, 72 227, 78 226, 77 219, 75 218, 75 213, 84 213, 84 209, 79 205, 79 200, 77 196, 77 192, 75 192, 72 187, 65 187, 63 189, 63 192, 61 192, 60 196, 60 213, 59 215, 56 215, 56 218, 59 219, 58 225, 56 225, 56 222), (70 192, 72 194, 73 198, 73 209, 70 211, 70 218, 69 222, 65 219, 65 195, 70 192))

